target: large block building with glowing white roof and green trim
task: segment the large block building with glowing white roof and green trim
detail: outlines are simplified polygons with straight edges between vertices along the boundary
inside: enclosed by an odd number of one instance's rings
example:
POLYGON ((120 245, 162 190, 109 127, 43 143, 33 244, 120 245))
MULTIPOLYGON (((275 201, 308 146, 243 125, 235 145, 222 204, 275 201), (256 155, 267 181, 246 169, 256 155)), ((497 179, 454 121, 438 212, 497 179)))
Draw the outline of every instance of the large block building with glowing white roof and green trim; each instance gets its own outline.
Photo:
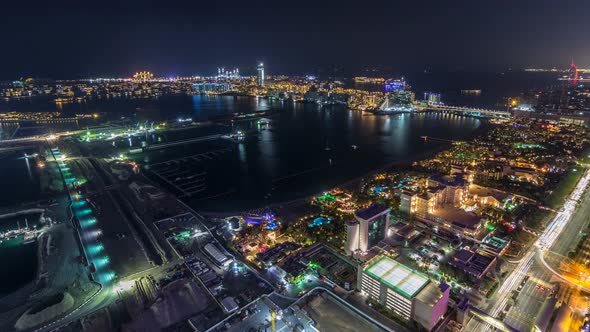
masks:
POLYGON ((387 256, 377 256, 359 269, 361 294, 395 316, 431 331, 443 318, 450 287, 436 285, 427 276, 387 256))

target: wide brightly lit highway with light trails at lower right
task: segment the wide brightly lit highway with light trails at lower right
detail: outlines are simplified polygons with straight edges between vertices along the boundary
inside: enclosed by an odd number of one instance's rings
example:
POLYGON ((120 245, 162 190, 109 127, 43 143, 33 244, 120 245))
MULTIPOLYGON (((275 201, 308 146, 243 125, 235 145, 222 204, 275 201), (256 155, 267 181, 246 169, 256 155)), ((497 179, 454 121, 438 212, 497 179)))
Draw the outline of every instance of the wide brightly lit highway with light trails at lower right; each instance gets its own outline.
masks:
MULTIPOLYGON (((563 208, 559 210, 535 244, 529 248, 516 265, 511 266, 512 272, 488 302, 486 312, 491 317, 498 317, 509 303, 513 291, 518 290, 519 285, 528 274, 534 278, 531 278, 520 290, 516 305, 508 312, 505 322, 521 331, 530 330, 534 326, 542 301, 546 297, 546 294, 539 294, 536 285, 548 285, 553 277, 553 273, 544 267, 538 256, 549 249, 566 255, 570 248, 575 246, 576 237, 589 221, 590 195, 584 198, 583 203, 580 204, 581 208, 577 209, 578 202, 588 184, 590 184, 590 172, 586 171, 572 194, 566 199, 563 208)), ((465 331, 475 332, 491 329, 492 327, 488 323, 474 319, 465 326, 465 331)))

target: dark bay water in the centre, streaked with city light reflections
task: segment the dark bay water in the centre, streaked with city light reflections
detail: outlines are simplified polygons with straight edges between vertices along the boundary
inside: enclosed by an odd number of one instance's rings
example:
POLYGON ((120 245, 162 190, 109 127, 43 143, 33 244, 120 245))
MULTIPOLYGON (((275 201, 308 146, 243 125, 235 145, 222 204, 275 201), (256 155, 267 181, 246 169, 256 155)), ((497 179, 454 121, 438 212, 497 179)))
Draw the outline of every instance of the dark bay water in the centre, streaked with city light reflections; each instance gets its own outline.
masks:
MULTIPOLYGON (((242 130, 248 133, 242 143, 195 143, 131 155, 150 168, 155 165, 152 169, 160 167, 162 162, 177 160, 184 170, 192 170, 194 174, 206 172, 207 190, 186 200, 195 208, 207 211, 238 211, 327 190, 377 168, 414 160, 444 146, 444 143, 425 143, 421 136, 465 139, 482 126, 478 119, 453 115, 373 116, 345 107, 319 108, 314 104, 256 98, 187 98, 191 99, 191 105, 183 106, 182 100, 177 100, 175 109, 190 107, 193 118, 198 119, 253 110, 274 111, 269 125, 250 120, 194 129, 202 135, 242 130), (186 159, 219 150, 225 152, 213 159, 199 162, 186 159)), ((148 137, 148 141, 173 142, 184 136, 191 134, 172 132, 148 137)), ((174 176, 170 179, 174 180, 174 176)))

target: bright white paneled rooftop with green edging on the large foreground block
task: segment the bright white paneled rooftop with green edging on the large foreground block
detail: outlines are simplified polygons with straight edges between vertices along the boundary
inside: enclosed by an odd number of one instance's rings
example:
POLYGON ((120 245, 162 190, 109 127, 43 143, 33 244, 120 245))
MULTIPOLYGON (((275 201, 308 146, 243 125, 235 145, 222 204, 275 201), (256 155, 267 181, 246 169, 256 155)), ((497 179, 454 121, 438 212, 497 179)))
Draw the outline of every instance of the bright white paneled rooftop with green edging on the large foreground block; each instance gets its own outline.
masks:
POLYGON ((383 256, 365 269, 365 273, 377 278, 407 298, 413 298, 430 280, 401 263, 383 256))

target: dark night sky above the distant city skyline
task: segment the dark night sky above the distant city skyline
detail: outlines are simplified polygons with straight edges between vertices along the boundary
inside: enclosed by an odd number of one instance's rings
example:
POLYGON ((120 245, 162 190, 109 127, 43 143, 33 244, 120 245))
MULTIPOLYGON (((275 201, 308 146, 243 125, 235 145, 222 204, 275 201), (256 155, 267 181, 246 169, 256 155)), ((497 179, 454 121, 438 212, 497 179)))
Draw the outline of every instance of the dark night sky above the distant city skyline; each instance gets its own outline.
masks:
POLYGON ((12 2, 0 79, 590 67, 585 0, 12 2))

